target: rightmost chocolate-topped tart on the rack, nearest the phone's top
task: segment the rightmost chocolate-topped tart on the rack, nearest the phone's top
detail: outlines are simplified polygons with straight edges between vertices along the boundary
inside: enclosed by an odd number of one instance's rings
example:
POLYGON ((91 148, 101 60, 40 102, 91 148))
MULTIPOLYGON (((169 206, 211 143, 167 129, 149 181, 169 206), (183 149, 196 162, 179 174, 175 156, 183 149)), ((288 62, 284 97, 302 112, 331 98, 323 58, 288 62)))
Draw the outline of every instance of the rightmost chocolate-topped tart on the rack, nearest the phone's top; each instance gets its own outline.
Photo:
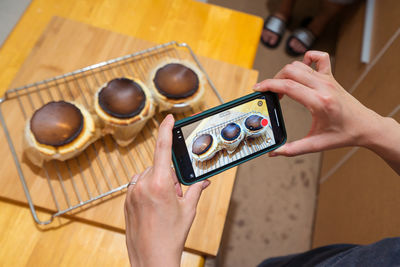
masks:
POLYGON ((150 71, 147 79, 160 111, 183 112, 199 105, 205 78, 190 61, 167 58, 150 71))

